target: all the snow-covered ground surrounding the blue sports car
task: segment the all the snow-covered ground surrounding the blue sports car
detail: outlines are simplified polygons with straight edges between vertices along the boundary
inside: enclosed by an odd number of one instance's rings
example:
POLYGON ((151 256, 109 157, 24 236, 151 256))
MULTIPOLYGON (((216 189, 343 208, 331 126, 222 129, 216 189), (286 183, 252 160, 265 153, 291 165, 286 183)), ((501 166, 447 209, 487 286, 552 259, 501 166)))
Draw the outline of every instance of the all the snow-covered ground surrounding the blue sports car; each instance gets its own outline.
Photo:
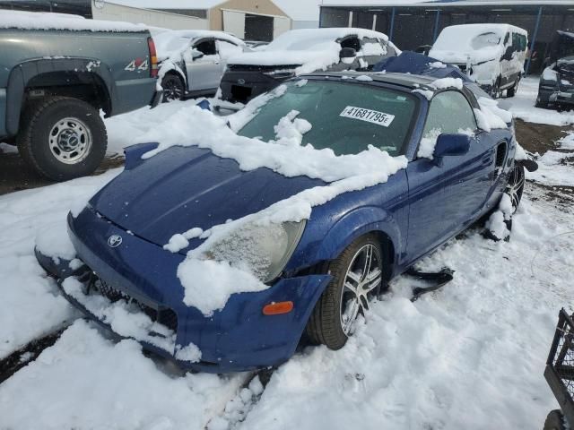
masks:
MULTIPOLYGON (((565 124, 532 107, 532 83, 521 83, 514 112, 565 124)), ((109 118, 110 146, 161 130, 193 103, 109 118)), ((571 166, 552 157, 528 178, 571 185, 571 166)), ((118 172, 0 197, 0 357, 77 316, 35 262, 35 236, 64 235, 66 212, 118 172)), ((421 264, 454 269, 445 288, 411 303, 413 280, 395 280, 343 349, 305 349, 263 393, 257 379, 245 387, 251 374, 181 374, 77 320, 0 384, 0 428, 541 428, 556 408, 543 371, 558 310, 570 309, 572 226, 574 209, 529 182, 510 242, 477 231, 453 239, 421 264)))

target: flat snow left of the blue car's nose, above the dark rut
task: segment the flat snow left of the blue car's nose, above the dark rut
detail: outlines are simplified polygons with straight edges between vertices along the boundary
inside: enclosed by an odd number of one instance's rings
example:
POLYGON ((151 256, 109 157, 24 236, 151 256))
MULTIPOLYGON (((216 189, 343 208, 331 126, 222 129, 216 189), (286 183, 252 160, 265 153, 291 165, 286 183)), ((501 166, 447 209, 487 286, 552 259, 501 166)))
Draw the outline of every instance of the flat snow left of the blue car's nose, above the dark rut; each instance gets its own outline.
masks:
POLYGON ((77 317, 36 262, 34 245, 54 258, 73 257, 67 212, 119 172, 0 196, 0 358, 77 317))

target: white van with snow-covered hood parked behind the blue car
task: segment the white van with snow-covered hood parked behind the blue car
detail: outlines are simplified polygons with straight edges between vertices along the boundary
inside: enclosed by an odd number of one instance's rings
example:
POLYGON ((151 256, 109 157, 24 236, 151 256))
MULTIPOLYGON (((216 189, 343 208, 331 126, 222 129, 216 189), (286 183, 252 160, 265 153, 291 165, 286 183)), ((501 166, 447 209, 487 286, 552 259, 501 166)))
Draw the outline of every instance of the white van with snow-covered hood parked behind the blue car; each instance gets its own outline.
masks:
POLYGON ((429 56, 457 65, 493 98, 513 97, 524 73, 526 30, 509 24, 452 25, 439 34, 429 56))

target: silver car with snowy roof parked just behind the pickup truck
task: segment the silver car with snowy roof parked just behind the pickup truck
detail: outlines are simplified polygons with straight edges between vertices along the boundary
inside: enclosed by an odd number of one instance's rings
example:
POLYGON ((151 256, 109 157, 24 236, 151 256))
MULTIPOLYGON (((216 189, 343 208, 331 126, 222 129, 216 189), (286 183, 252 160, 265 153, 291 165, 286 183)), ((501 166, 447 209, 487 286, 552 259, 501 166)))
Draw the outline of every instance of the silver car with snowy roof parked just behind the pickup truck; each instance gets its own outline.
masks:
POLYGON ((211 30, 164 30, 153 40, 164 101, 213 95, 227 59, 247 48, 241 39, 211 30))

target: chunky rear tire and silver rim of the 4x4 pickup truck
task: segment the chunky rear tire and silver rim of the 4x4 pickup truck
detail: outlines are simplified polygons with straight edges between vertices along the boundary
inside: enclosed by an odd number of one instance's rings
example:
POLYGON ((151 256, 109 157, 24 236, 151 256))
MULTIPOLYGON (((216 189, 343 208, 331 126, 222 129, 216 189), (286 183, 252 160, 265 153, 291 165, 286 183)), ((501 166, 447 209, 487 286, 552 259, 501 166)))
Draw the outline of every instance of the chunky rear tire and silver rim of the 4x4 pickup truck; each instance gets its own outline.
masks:
POLYGON ((30 103, 21 124, 18 150, 48 179, 90 175, 106 154, 108 134, 100 113, 82 100, 50 97, 30 103))

